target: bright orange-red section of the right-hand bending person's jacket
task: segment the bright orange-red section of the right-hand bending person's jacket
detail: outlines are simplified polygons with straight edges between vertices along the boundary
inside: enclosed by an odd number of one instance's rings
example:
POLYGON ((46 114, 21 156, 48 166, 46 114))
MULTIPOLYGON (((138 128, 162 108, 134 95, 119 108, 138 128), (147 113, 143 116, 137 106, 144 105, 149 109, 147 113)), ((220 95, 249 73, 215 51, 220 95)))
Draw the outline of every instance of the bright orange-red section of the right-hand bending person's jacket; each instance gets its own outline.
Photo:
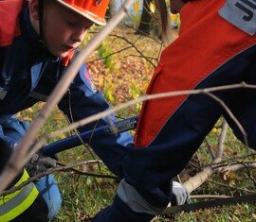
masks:
MULTIPOLYGON (((219 15, 218 10, 225 3, 225 0, 195 0, 184 6, 179 38, 162 52, 147 94, 192 90, 217 68, 256 43, 255 35, 248 35, 219 15), (181 76, 186 76, 186 80, 180 81, 181 76)), ((136 145, 150 145, 187 97, 144 102, 137 124, 136 145)))

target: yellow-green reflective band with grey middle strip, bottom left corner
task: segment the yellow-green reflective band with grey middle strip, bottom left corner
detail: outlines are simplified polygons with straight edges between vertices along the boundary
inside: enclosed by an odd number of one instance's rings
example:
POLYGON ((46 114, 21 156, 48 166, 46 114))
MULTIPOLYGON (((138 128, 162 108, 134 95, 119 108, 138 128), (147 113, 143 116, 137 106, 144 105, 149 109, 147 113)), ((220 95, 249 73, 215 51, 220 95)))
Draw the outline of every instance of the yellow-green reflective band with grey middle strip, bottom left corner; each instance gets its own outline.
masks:
MULTIPOLYGON (((18 186, 28 178, 27 171, 24 171, 23 177, 15 186, 18 186)), ((39 192, 34 183, 30 182, 19 191, 7 196, 0 196, 0 221, 10 221, 19 214, 24 213, 34 202, 38 194, 39 192)))

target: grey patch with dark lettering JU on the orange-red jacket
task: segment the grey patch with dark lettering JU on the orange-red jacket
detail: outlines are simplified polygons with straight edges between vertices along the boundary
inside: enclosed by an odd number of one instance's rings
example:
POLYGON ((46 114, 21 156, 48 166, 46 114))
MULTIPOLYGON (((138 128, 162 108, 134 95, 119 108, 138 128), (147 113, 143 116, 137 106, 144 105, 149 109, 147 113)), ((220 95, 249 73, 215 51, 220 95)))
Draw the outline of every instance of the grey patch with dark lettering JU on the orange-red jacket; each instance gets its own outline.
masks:
POLYGON ((256 33, 256 1, 227 0, 219 15, 230 24, 253 36, 256 33))

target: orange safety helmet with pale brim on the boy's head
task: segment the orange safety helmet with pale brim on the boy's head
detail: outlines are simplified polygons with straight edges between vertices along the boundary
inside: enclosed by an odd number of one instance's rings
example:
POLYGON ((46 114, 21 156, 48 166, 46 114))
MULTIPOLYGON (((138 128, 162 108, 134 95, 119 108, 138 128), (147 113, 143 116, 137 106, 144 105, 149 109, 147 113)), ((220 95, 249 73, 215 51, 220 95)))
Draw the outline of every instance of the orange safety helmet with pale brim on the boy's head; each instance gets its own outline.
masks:
POLYGON ((56 0, 64 7, 72 9, 92 22, 105 26, 105 13, 109 0, 56 0))

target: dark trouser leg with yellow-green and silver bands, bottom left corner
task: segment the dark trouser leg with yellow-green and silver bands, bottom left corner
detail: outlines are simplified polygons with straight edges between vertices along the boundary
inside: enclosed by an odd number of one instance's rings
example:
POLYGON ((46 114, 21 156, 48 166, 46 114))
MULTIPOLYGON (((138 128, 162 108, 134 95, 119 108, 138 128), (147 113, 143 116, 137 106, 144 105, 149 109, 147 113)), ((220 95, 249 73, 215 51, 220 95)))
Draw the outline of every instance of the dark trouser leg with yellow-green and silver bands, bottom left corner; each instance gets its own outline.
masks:
MULTIPOLYGON (((9 161, 12 149, 4 140, 0 139, 0 174, 9 161)), ((29 179, 26 170, 9 184, 3 196, 0 196, 0 221, 37 221, 46 222, 48 209, 46 201, 33 182, 28 182, 24 186, 19 186, 29 179), (12 189, 12 192, 10 192, 12 189)))

